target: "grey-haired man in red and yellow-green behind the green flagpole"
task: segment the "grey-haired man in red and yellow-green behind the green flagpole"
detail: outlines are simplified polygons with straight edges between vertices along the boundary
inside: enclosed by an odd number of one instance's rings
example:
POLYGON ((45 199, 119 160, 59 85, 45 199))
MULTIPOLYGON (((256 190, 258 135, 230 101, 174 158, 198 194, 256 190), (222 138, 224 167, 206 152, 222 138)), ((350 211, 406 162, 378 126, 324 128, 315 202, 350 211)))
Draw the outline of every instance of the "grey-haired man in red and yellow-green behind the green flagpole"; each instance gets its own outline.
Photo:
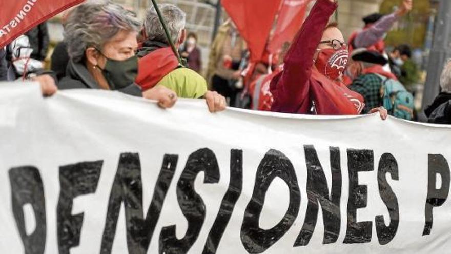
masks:
MULTIPOLYGON (((172 43, 178 49, 186 39, 186 13, 172 4, 159 4, 158 7, 167 22, 172 43)), ((144 91, 160 85, 183 98, 217 97, 224 104, 222 108, 226 107, 225 99, 207 91, 207 82, 201 75, 179 63, 154 7, 146 13, 144 28, 146 41, 138 50, 140 72, 136 79, 144 91)))

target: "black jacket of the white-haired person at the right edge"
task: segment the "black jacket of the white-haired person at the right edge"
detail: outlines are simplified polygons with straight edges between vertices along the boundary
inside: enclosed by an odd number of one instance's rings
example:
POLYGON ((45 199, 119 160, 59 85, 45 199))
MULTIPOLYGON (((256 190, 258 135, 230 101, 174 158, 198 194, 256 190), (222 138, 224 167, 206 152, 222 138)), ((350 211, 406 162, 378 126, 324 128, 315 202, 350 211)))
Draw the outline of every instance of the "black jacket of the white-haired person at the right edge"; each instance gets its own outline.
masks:
POLYGON ((451 124, 451 94, 440 93, 432 105, 424 110, 428 122, 432 124, 451 124))

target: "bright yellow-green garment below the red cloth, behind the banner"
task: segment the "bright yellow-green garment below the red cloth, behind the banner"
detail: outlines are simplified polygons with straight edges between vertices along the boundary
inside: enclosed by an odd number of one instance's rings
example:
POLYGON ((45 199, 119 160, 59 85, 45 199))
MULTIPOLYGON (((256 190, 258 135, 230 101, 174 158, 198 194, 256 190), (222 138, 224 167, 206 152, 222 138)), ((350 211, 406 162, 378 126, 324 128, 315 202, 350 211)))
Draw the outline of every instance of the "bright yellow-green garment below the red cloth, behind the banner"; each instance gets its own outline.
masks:
POLYGON ((207 92, 207 81, 197 72, 185 67, 171 71, 157 85, 173 90, 180 98, 198 99, 207 92))

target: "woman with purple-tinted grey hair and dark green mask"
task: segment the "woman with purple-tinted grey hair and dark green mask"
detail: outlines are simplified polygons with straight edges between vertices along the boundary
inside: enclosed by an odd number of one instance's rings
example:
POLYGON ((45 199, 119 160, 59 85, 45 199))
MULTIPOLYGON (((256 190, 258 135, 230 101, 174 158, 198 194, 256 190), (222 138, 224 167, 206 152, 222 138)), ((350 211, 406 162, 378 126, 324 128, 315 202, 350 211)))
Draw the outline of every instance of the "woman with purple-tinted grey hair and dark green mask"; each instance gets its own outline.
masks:
POLYGON ((70 61, 60 89, 118 90, 157 100, 172 107, 175 92, 162 86, 141 92, 134 81, 138 74, 136 37, 141 23, 136 15, 111 2, 88 2, 75 8, 65 27, 70 61))

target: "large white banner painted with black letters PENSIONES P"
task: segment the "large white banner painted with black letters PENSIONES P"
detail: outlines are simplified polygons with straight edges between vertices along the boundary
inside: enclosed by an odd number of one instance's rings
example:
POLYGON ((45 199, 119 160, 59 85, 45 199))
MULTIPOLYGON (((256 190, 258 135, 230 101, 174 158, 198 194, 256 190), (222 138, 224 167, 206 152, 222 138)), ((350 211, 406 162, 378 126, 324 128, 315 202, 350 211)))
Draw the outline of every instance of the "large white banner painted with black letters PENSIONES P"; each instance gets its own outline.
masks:
POLYGON ((448 253, 451 128, 0 86, 0 253, 448 253))

